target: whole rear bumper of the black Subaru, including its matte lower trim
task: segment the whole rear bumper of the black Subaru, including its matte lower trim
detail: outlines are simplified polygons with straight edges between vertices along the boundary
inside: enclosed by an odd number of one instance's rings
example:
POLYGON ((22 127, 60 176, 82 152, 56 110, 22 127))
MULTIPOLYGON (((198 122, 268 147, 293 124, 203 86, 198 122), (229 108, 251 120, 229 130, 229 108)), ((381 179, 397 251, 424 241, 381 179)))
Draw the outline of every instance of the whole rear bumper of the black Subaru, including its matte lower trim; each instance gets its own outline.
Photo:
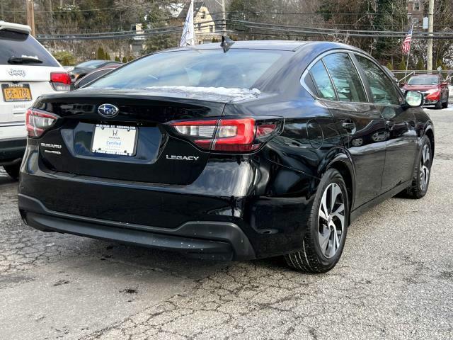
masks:
MULTIPOLYGON (((219 256, 223 259, 264 258, 300 250, 314 200, 311 188, 316 188, 317 180, 287 168, 274 169, 269 176, 270 164, 264 158, 259 161, 213 158, 195 182, 167 185, 51 171, 38 147, 29 141, 18 186, 19 208, 25 220, 38 229, 173 250, 184 249, 174 242, 169 247, 162 235, 172 240, 183 237, 179 244, 201 239, 222 249, 227 244, 231 252, 219 256), (265 193, 267 188, 275 195, 292 188, 297 193, 270 196, 265 193), (39 204, 32 205, 33 199, 39 204), (64 229, 68 220, 71 225, 64 229), (100 226, 109 227, 110 232, 93 230, 100 226), (132 241, 126 235, 131 231, 137 236, 132 241), (233 236, 236 234, 241 237, 233 236), (159 240, 149 238, 156 235, 159 240), (148 237, 147 241, 142 237, 148 237), (241 250, 240 244, 253 251, 241 250)), ((205 254, 205 249, 202 244, 190 249, 190 254, 205 254)))

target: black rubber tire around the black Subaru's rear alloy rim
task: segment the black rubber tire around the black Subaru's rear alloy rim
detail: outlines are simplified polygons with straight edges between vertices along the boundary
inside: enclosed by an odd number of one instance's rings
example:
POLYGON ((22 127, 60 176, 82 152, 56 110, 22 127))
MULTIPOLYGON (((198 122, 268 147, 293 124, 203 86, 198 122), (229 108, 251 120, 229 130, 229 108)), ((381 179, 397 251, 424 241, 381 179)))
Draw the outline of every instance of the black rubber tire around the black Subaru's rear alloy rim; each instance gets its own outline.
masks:
MULTIPOLYGON (((332 190, 332 189, 330 189, 332 190)), ((336 205, 338 207, 338 205, 336 205)), ((328 209, 328 208, 327 208, 328 209)), ((331 208, 331 210, 333 210, 331 208)), ((335 217, 334 217, 335 218, 335 217)), ((330 217, 329 217, 330 219, 330 217)), ((340 220, 333 220, 336 224, 340 220)), ((298 271, 303 271, 305 273, 326 273, 330 271, 338 260, 340 259, 341 253, 343 252, 343 247, 345 246, 346 234, 348 233, 348 224, 349 224, 349 203, 348 203, 348 191, 346 189, 345 181, 340 172, 336 169, 328 169, 326 174, 321 179, 319 183, 318 190, 316 191, 316 196, 314 198, 314 204, 311 207, 311 213, 309 220, 306 225, 306 234, 302 240, 302 250, 295 251, 291 254, 285 255, 285 260, 288 266, 297 269, 298 271), (328 257, 324 254, 326 250, 321 250, 321 244, 319 239, 320 226, 323 228, 329 228, 327 223, 323 225, 320 223, 320 220, 323 220, 320 217, 320 206, 323 194, 327 188, 332 188, 332 184, 336 184, 335 188, 340 188, 343 197, 344 204, 344 223, 343 223, 343 232, 340 235, 340 242, 338 249, 333 254, 333 256, 328 257)), ((330 225, 329 225, 330 226, 330 225)), ((326 229, 323 229, 326 230, 326 229)), ((332 234, 331 234, 332 237, 332 234)), ((328 240, 331 239, 328 238, 328 240)), ((329 243, 329 242, 328 242, 329 243)))

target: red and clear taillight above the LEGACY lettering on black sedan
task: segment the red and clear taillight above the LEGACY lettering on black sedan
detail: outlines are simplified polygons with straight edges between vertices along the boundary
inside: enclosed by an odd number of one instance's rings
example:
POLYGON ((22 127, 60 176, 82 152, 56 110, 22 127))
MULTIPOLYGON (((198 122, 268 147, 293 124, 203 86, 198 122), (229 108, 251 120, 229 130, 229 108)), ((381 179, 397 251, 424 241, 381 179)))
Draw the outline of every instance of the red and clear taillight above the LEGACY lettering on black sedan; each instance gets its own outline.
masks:
POLYGON ((234 118, 170 123, 173 129, 202 149, 218 152, 252 152, 277 135, 282 120, 234 118))

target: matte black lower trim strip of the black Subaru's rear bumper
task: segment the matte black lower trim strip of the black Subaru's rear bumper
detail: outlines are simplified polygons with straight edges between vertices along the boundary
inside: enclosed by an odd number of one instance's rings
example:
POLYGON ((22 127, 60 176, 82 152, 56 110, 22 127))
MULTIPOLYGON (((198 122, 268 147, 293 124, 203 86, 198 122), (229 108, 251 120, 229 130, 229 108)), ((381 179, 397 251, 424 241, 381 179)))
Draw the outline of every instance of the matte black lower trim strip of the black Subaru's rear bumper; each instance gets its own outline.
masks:
POLYGON ((185 222, 175 229, 168 229, 55 212, 45 208, 40 200, 21 194, 18 196, 18 205, 23 220, 45 232, 62 232, 182 251, 190 257, 201 259, 244 260, 256 257, 241 228, 230 222, 185 222))

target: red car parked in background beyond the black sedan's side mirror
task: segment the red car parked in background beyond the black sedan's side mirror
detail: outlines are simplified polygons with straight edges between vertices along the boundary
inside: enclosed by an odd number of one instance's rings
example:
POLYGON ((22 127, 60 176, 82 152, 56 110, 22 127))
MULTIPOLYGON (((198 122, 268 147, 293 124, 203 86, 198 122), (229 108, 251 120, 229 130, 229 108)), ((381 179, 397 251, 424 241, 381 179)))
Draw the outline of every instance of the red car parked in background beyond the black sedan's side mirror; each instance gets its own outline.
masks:
POLYGON ((435 108, 447 108, 448 83, 440 74, 417 74, 403 86, 403 91, 420 91, 425 95, 425 105, 435 108))

